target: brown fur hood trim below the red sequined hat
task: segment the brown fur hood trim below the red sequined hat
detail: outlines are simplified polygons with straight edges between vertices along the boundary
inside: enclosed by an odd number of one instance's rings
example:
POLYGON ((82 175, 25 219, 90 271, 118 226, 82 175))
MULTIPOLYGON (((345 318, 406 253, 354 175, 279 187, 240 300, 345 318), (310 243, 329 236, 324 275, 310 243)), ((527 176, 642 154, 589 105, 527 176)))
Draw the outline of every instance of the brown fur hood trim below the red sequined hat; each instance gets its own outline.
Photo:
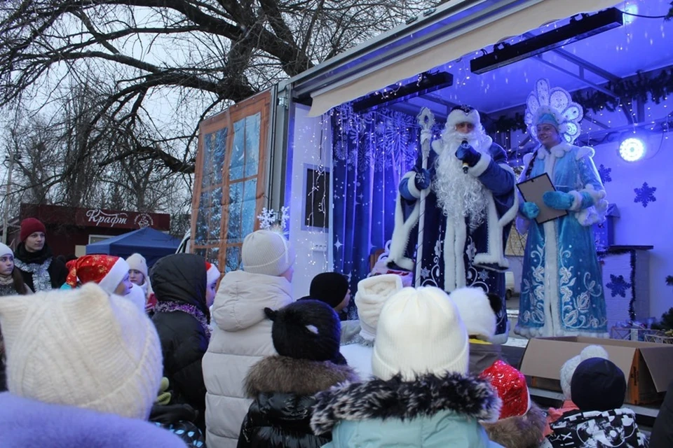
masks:
POLYGON ((547 419, 544 412, 531 402, 531 409, 522 416, 483 423, 489 439, 507 448, 537 448, 543 440, 547 419))

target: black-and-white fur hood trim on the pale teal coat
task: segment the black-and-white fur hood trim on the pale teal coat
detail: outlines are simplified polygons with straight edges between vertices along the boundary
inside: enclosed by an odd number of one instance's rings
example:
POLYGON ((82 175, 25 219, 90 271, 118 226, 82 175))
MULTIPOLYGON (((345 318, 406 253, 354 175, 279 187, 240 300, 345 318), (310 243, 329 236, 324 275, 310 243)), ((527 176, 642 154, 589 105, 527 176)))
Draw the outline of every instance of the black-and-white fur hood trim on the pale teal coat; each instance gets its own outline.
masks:
POLYGON ((501 407, 488 381, 456 373, 425 374, 415 381, 402 381, 400 375, 386 381, 375 378, 332 387, 316 398, 311 428, 317 435, 331 432, 341 420, 410 420, 443 411, 496 421, 501 407))

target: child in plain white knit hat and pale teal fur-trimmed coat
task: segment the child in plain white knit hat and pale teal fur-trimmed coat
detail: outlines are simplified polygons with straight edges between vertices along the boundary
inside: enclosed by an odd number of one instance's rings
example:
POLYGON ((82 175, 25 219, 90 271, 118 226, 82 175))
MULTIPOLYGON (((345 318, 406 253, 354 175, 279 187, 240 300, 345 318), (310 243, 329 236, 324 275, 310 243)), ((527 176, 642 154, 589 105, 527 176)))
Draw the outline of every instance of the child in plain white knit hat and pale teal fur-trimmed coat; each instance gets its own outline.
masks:
POLYGON ((374 379, 317 395, 311 427, 335 447, 497 447, 478 421, 496 421, 501 400, 468 376, 468 334, 439 288, 403 288, 381 309, 374 379))

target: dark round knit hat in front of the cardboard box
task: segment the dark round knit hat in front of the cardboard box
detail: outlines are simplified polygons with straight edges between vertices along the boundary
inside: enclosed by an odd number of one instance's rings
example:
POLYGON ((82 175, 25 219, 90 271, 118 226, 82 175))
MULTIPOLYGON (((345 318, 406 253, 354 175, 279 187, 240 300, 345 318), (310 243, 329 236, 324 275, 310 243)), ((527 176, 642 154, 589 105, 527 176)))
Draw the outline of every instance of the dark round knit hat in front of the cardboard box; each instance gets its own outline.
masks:
POLYGON ((609 411, 624 405, 626 379, 612 361, 589 358, 577 366, 570 389, 580 411, 609 411))

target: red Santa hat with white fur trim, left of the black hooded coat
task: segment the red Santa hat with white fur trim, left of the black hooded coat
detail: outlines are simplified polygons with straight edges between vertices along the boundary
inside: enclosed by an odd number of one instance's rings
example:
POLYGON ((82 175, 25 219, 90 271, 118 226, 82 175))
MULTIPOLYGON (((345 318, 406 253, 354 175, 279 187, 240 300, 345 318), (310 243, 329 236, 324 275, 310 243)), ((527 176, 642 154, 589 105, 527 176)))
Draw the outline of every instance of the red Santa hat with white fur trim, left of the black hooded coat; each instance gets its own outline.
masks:
POLYGON ((93 281, 111 294, 118 284, 128 275, 128 263, 123 258, 112 255, 83 255, 67 265, 70 272, 65 282, 75 288, 77 281, 93 281))

